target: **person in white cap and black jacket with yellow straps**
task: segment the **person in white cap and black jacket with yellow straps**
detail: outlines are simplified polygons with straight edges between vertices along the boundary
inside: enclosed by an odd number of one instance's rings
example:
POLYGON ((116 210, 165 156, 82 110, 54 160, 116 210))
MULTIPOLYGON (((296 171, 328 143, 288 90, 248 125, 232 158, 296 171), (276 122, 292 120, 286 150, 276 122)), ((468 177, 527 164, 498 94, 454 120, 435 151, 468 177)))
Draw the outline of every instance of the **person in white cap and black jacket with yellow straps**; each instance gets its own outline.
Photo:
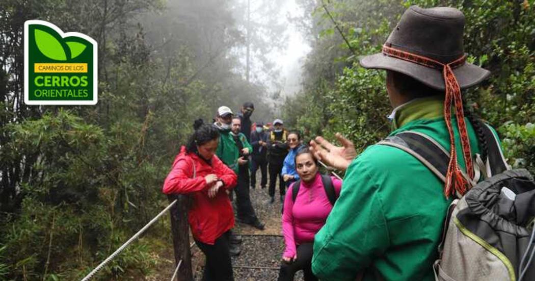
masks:
POLYGON ((280 202, 284 201, 284 194, 286 188, 284 180, 282 180, 282 165, 284 158, 288 154, 288 143, 286 143, 286 135, 288 134, 283 127, 281 119, 273 121, 273 130, 270 132, 268 139, 268 163, 269 163, 269 196, 271 196, 270 203, 274 202, 275 186, 277 178, 279 178, 279 193, 280 202))

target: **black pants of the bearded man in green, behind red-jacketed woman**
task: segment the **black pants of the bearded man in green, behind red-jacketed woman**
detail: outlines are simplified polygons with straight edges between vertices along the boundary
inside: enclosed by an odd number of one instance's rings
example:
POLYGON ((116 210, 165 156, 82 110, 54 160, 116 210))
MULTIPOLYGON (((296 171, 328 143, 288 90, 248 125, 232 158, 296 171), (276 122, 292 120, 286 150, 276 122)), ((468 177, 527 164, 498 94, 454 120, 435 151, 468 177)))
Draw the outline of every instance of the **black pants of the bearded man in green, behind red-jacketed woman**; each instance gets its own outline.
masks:
POLYGON ((248 165, 240 166, 238 172, 238 184, 234 188, 236 191, 236 207, 238 218, 244 223, 255 223, 258 218, 249 196, 249 168, 248 165))

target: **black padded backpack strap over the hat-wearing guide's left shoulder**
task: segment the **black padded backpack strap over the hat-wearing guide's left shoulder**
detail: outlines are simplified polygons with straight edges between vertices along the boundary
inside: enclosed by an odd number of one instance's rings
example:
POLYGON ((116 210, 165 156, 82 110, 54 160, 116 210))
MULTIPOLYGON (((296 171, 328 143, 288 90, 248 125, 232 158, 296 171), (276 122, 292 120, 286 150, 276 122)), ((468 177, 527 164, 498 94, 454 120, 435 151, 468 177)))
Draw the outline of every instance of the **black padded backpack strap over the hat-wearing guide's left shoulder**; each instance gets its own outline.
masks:
POLYGON ((446 182, 449 153, 430 136, 420 132, 405 131, 394 136, 388 136, 378 144, 406 151, 422 162, 438 178, 446 182))

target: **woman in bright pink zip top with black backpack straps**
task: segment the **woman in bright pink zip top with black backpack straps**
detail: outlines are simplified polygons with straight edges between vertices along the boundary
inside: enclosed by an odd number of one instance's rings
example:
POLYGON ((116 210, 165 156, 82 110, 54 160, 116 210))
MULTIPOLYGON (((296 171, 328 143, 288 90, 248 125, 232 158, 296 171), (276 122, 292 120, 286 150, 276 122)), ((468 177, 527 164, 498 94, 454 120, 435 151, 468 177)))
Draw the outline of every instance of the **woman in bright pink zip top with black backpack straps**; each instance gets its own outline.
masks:
POLYGON ((319 173, 318 162, 308 148, 297 151, 295 168, 301 180, 288 188, 284 200, 282 232, 286 248, 278 281, 293 280, 300 269, 303 269, 305 281, 317 280, 310 268, 314 236, 325 224, 332 209, 331 202, 338 198, 342 187, 341 180, 319 173), (299 187, 294 186, 296 184, 299 187), (295 199, 294 188, 297 188, 295 199), (330 199, 327 192, 335 198, 330 199))

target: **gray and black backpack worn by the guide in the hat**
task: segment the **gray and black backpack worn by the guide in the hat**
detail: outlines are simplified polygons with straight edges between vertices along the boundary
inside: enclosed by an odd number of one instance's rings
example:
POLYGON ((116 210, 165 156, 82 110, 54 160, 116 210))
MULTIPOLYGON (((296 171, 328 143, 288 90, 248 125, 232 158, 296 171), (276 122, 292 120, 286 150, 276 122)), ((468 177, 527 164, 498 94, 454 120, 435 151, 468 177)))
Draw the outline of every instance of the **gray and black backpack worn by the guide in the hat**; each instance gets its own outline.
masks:
MULTIPOLYGON (((488 156, 476 156, 473 187, 448 208, 433 270, 437 281, 535 280, 535 182, 510 170, 498 140, 484 126, 488 156)), ((380 145, 396 147, 445 181, 449 153, 429 136, 407 131, 380 145)))

